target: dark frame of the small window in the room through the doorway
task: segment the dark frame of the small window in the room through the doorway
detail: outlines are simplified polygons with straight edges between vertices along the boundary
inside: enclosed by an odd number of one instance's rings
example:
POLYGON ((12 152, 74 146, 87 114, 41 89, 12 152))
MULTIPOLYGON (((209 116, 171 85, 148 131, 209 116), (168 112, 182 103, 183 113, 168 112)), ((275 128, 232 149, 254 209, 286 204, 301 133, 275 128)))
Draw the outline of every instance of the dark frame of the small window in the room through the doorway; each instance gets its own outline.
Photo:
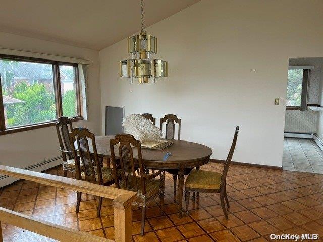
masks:
MULTIPOLYGON (((286 110, 304 110, 308 106, 308 88, 309 88, 309 75, 310 75, 310 68, 293 68, 293 66, 289 67, 289 70, 296 70, 302 69, 303 70, 303 77, 302 77, 302 90, 301 90, 301 105, 300 106, 287 106, 286 110)), ((288 81, 288 80, 287 80, 288 81)))

